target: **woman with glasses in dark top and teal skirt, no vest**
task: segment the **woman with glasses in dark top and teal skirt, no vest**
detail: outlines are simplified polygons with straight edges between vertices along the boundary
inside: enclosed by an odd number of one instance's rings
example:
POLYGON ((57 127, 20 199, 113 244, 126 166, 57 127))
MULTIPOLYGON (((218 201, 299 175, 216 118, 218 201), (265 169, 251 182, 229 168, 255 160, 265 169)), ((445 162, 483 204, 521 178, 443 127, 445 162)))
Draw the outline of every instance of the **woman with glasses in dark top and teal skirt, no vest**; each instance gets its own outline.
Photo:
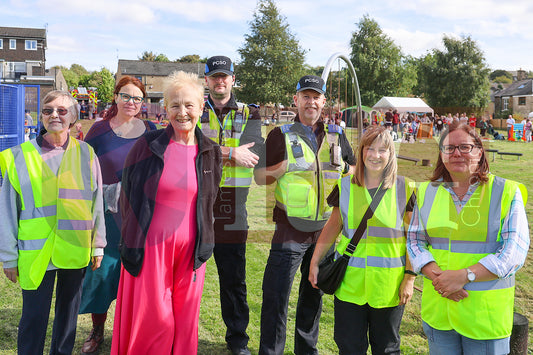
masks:
POLYGON ((131 76, 122 77, 115 86, 114 101, 102 121, 95 122, 85 141, 96 152, 104 184, 107 247, 97 271, 87 270, 83 284, 80 313, 91 313, 93 329, 82 347, 82 354, 96 353, 104 340, 104 324, 109 305, 117 297, 120 279, 120 226, 118 206, 122 168, 126 155, 145 132, 155 130, 152 122, 137 118, 146 97, 144 85, 131 76))

